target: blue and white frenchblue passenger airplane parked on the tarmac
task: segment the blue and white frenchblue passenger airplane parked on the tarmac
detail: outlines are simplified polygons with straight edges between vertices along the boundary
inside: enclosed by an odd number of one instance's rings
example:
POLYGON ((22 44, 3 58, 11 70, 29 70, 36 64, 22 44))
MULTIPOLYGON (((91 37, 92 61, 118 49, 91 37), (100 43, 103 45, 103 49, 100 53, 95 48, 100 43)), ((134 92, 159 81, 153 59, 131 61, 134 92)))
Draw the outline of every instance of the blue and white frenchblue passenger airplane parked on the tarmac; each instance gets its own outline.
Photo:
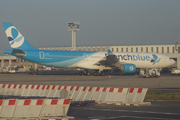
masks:
POLYGON ((105 75, 104 70, 134 73, 136 68, 165 68, 175 63, 160 53, 39 50, 29 44, 12 23, 2 24, 12 48, 4 53, 50 67, 83 68, 84 75, 90 75, 89 69, 95 70, 94 75, 98 76, 105 75))

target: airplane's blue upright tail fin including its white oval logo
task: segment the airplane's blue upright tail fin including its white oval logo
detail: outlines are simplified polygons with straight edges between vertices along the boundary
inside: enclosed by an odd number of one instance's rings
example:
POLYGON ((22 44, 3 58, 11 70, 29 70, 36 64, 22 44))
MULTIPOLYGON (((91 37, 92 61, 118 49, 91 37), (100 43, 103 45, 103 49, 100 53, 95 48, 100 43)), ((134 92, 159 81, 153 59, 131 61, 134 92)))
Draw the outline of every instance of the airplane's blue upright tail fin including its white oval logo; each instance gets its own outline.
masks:
POLYGON ((12 23, 2 23, 12 49, 38 50, 33 47, 13 26, 12 23))

